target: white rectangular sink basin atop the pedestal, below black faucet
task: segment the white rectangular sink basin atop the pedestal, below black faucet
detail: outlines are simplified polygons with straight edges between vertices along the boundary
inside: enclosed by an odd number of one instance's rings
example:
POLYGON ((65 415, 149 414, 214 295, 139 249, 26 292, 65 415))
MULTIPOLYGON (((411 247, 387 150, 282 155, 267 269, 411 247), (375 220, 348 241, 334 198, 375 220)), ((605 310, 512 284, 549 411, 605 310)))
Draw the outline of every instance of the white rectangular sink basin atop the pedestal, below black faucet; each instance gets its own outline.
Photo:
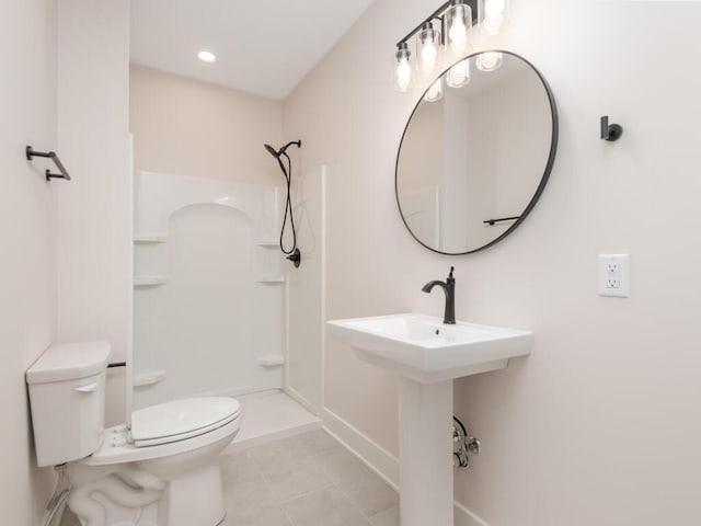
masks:
POLYGON ((533 346, 533 333, 457 322, 424 315, 391 315, 329 321, 331 334, 358 357, 420 382, 436 382, 502 369, 533 346))

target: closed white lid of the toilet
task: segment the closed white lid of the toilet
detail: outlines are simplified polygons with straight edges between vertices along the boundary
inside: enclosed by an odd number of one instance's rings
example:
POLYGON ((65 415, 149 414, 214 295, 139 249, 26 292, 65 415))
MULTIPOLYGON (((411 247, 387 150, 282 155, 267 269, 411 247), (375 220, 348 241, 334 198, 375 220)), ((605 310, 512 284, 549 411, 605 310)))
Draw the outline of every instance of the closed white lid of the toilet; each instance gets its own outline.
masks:
POLYGON ((207 433, 239 416, 233 398, 173 400, 131 413, 131 439, 137 447, 166 444, 207 433))

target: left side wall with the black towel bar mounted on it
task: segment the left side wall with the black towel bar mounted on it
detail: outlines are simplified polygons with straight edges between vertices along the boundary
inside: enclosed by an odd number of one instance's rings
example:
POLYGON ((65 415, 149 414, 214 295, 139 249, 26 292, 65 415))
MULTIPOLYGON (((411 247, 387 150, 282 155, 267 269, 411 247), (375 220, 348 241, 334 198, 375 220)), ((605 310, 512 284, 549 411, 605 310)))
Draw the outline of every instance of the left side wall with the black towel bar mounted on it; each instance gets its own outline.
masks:
POLYGON ((56 2, 2 5, 0 16, 0 510, 3 524, 38 524, 50 469, 37 469, 24 371, 49 345, 56 315, 56 205, 24 147, 56 149, 56 2))

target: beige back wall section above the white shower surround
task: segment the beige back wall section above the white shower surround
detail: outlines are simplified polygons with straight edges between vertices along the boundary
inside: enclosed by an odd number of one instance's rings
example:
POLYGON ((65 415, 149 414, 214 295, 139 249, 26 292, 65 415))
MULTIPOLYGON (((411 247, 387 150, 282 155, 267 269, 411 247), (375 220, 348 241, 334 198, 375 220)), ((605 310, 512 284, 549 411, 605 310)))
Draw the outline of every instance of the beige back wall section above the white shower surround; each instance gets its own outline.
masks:
POLYGON ((283 104, 131 66, 129 126, 140 170, 253 184, 283 182, 264 144, 280 145, 283 104))

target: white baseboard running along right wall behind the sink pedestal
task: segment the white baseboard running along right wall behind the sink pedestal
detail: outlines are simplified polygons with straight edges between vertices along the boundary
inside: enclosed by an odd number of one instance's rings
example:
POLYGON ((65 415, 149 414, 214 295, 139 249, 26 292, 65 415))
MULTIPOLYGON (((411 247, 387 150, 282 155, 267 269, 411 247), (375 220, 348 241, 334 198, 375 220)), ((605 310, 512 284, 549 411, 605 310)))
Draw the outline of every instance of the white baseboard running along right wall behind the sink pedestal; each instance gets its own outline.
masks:
MULTIPOLYGON (((382 480, 399 491, 399 459, 370 437, 324 408, 323 427, 350 453, 375 471, 382 480)), ((490 526, 489 523, 455 501, 455 526, 490 526)))

